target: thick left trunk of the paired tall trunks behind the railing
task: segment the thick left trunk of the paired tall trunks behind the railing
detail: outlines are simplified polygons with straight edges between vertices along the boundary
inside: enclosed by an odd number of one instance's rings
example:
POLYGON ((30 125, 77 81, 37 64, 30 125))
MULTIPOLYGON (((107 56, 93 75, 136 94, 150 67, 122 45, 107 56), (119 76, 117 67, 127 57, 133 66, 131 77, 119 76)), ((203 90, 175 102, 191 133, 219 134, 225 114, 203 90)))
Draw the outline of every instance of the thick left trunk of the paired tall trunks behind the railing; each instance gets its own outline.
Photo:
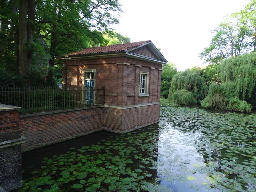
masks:
POLYGON ((28 58, 27 58, 27 8, 28 0, 20 0, 19 9, 19 65, 20 75, 27 75, 28 58))

